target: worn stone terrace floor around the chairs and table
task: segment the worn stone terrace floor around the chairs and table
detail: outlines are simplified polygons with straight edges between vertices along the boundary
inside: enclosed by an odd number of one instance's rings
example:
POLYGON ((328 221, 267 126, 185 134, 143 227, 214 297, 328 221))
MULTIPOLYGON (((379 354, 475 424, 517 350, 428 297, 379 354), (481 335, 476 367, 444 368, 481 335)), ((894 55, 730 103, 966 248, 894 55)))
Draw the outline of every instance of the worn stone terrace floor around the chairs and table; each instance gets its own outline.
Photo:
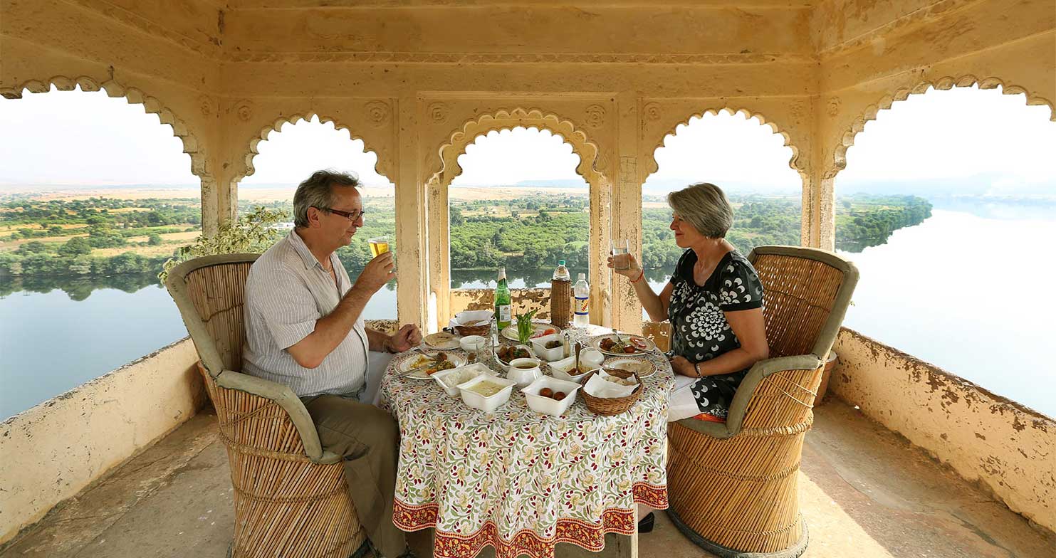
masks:
MULTIPOLYGON (((816 409, 799 479, 807 557, 1054 556, 1051 535, 838 401, 816 409)), ((639 540, 642 558, 710 556, 657 516, 639 540)), ((227 456, 209 410, 58 506, 0 557, 219 558, 232 522, 227 456)))

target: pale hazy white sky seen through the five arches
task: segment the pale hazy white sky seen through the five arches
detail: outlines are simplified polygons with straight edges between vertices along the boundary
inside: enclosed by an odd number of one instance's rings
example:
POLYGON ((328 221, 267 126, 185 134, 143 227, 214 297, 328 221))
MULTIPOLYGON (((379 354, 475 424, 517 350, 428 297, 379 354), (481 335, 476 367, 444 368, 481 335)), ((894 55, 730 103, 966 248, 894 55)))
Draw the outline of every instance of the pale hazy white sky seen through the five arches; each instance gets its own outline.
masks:
MULTIPOLYGON (((999 175, 1001 185, 1056 180, 1056 123, 1048 107, 1023 95, 975 88, 931 91, 897 102, 866 124, 848 151, 837 184, 999 175)), ((681 126, 657 151, 646 188, 665 181, 761 185, 796 192, 791 150, 779 135, 742 115, 705 115, 681 126)), ((333 124, 285 124, 259 146, 257 173, 244 185, 296 185, 310 171, 356 171, 366 184, 376 156, 333 124)), ((459 157, 456 185, 578 179, 579 157, 549 132, 491 133, 459 157)), ((156 115, 103 92, 25 93, 0 98, 2 184, 196 184, 190 158, 156 115)))

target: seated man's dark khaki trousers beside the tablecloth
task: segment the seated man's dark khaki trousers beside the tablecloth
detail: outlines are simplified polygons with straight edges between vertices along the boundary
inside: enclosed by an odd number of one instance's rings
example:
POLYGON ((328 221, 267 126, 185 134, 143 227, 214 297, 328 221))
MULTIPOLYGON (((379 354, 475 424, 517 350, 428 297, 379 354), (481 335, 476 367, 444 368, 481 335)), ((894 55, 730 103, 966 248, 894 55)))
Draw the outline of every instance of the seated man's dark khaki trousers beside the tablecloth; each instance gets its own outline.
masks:
POLYGON ((323 449, 342 456, 348 494, 371 543, 385 558, 407 550, 393 524, 399 426, 388 412, 340 396, 302 398, 323 449))

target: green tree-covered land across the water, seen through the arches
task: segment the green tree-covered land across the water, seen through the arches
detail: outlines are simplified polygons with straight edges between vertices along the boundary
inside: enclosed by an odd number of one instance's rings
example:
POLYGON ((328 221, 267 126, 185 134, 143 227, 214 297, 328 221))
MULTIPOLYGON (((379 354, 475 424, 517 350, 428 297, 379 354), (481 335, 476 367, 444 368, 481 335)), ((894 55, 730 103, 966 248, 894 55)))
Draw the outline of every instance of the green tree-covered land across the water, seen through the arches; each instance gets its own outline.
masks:
MULTIPOLYGON (((663 201, 663 198, 646 196, 645 201, 663 201)), ((731 203, 735 207, 735 222, 728 238, 742 252, 759 245, 799 244, 800 203, 797 197, 731 196, 731 203)), ((242 203, 240 214, 249 214, 260 206, 242 203)), ((668 228, 671 210, 654 206, 647 204, 642 211, 641 261, 647 269, 671 269, 682 249, 675 245, 668 228)), ((284 211, 287 215, 293 212, 288 201, 262 207, 272 212, 284 211)), ((364 209, 364 226, 351 246, 338 251, 353 276, 371 259, 367 238, 386 235, 395 250, 396 215, 392 198, 367 197, 364 209)), ((197 223, 199 212, 197 200, 193 199, 34 201, 8 198, 0 203, 0 224, 18 227, 11 233, 12 238, 32 240, 20 244, 15 250, 0 251, 0 278, 157 273, 169 256, 140 255, 135 253, 137 246, 157 246, 163 243, 161 234, 188 230, 178 225, 197 223), (139 209, 114 212, 128 208, 139 209), (156 225, 144 226, 144 219, 156 225), (71 230, 60 225, 79 227, 71 230), (44 242, 48 237, 71 234, 77 235, 61 243, 44 242), (128 240, 144 235, 148 236, 147 243, 128 240), (91 255, 94 249, 121 247, 129 250, 111 257, 91 255)), ((916 196, 843 197, 837 200, 836 246, 860 251, 866 246, 883 244, 894 230, 918 225, 930 214, 930 204, 916 196)), ((550 269, 559 259, 565 259, 572 270, 587 269, 590 224, 585 195, 453 200, 449 218, 453 270, 505 266, 510 271, 528 273, 550 269)), ((196 229, 196 226, 191 227, 191 230, 196 229)), ((276 238, 281 236, 275 235, 276 238)))

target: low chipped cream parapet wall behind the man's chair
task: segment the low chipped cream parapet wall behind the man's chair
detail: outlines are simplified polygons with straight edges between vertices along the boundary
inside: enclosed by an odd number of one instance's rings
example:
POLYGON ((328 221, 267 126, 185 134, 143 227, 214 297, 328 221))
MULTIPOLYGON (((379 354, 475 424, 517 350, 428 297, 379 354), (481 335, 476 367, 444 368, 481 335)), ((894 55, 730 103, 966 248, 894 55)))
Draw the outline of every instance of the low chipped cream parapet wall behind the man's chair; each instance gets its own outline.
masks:
POLYGON ((0 544, 165 437, 206 401, 189 339, 0 425, 0 544))

